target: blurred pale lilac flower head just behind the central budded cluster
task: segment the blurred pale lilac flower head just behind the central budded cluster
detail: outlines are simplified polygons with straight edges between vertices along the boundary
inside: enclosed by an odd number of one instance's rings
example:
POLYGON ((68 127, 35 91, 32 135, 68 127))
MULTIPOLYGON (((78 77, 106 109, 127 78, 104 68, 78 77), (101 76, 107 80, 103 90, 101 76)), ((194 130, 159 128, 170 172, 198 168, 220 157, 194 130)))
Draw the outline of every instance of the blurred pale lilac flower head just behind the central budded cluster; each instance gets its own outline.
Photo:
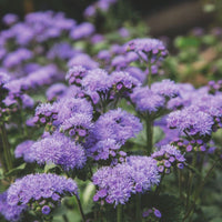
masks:
POLYGON ((85 69, 97 69, 99 63, 93 61, 88 54, 80 53, 71 58, 68 62, 69 68, 74 65, 82 65, 85 69))

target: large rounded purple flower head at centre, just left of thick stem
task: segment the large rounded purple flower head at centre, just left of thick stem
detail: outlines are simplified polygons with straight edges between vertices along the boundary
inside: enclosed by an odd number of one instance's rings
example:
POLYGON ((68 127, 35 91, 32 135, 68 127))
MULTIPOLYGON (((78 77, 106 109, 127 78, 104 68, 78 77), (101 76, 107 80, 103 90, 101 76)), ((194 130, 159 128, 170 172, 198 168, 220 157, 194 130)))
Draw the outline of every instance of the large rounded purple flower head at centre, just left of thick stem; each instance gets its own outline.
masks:
POLYGON ((99 118, 90 137, 99 140, 113 139, 123 144, 128 139, 135 137, 142 130, 140 120, 121 110, 110 110, 99 118))

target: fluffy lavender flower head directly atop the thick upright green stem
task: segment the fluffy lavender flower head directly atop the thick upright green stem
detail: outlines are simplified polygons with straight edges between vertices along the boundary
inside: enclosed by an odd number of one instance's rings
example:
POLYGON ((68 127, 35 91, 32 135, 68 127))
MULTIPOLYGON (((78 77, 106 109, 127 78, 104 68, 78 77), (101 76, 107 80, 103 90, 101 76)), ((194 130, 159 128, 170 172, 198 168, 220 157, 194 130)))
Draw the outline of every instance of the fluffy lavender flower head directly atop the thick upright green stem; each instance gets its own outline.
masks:
POLYGON ((163 97, 154 93, 148 87, 135 88, 131 94, 131 100, 135 103, 137 110, 148 113, 157 112, 165 103, 163 97))

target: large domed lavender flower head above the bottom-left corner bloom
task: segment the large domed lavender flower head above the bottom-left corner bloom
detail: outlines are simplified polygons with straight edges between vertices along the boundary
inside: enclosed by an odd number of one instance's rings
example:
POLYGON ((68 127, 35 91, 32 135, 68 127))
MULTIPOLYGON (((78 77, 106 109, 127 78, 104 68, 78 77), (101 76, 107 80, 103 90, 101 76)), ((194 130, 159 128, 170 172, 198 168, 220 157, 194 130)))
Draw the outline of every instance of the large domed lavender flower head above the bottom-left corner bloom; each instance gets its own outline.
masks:
POLYGON ((38 164, 54 163, 61 165, 65 171, 74 168, 81 169, 87 161, 82 147, 60 133, 37 141, 31 145, 30 152, 32 162, 37 161, 38 164))

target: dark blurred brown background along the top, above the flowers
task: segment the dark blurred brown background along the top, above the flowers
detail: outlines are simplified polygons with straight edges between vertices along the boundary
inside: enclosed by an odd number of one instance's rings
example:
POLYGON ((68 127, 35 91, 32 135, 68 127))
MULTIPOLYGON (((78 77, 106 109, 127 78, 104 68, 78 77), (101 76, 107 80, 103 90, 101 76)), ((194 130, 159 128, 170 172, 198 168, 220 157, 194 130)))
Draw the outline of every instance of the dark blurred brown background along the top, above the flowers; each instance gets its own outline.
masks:
MULTIPOLYGON (((84 20, 83 11, 93 0, 0 0, 0 17, 16 13, 20 18, 33 11, 63 11, 78 22, 84 20)), ((112 11, 112 28, 124 21, 143 21, 152 36, 175 36, 192 27, 219 26, 222 16, 221 0, 119 0, 112 11)), ((110 14, 109 14, 110 17, 110 14)), ((101 21, 97 26, 102 30, 101 21)), ((1 24, 1 29, 2 29, 1 24)), ((111 27, 109 27, 111 28, 111 27)))

